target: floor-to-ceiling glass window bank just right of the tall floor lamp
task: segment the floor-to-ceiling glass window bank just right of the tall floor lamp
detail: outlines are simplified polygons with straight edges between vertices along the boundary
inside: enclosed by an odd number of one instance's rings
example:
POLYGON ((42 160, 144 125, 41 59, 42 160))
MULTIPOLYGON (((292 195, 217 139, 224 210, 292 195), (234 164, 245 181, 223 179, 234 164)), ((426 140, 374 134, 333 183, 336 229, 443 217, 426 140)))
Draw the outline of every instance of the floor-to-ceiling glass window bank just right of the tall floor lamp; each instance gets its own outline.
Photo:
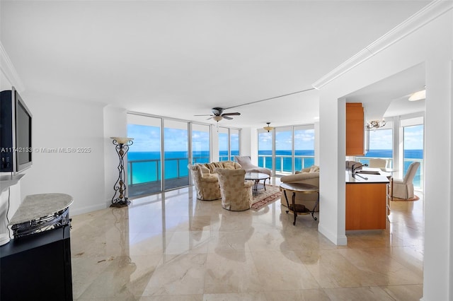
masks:
POLYGON ((134 138, 127 155, 129 197, 188 186, 188 164, 211 160, 209 124, 130 113, 127 136, 134 138))

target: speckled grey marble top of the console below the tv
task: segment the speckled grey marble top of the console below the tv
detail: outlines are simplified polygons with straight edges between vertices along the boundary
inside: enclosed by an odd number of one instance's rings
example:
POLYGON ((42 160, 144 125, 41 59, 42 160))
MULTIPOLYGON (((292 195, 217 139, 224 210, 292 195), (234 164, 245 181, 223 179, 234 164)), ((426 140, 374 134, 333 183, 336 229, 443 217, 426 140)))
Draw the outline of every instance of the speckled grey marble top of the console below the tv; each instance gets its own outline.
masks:
POLYGON ((53 216, 58 211, 69 207, 72 196, 69 194, 31 194, 19 206, 8 225, 26 223, 29 220, 53 216))

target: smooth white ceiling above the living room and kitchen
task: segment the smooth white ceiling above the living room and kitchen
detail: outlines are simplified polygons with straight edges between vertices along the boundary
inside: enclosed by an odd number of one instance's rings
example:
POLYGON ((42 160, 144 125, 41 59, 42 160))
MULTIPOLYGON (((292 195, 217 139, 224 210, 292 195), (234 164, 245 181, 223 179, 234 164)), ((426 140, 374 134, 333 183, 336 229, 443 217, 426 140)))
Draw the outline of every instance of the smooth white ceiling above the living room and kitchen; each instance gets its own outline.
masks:
MULTIPOLYGON (((309 89, 426 4, 1 0, 0 40, 30 95, 214 123, 193 115, 309 89)), ((384 92, 393 81, 383 81, 379 91, 369 87, 373 95, 383 93, 385 105, 376 114, 417 90, 419 73, 415 77, 401 91, 397 85, 384 92)), ((374 103, 367 90, 361 93, 362 101, 374 103)), ((243 105, 225 111, 241 116, 221 122, 313 122, 317 98, 318 91, 310 90, 243 105)))

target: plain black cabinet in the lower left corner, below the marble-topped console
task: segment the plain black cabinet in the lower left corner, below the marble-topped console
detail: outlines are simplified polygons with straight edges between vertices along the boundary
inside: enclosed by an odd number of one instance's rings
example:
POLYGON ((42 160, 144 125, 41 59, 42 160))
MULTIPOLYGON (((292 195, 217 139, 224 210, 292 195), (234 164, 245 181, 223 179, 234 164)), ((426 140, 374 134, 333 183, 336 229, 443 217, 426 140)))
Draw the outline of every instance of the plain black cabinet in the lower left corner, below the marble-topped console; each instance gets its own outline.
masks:
POLYGON ((0 300, 72 300, 69 225, 0 247, 0 300))

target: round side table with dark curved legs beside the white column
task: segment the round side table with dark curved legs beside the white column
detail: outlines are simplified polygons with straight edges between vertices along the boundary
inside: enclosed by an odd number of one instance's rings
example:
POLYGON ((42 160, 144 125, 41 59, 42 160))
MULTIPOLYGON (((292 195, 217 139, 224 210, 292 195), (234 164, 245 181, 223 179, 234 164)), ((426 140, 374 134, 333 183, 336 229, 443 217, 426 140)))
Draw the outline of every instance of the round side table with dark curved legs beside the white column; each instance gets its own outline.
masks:
POLYGON ((288 209, 286 213, 289 213, 289 211, 292 211, 294 213, 294 222, 292 225, 296 225, 296 218, 297 218, 297 213, 301 214, 309 214, 311 212, 311 217, 314 220, 317 220, 314 216, 314 210, 316 209, 316 206, 319 204, 319 188, 311 185, 311 184, 304 184, 304 183, 282 183, 280 184, 280 188, 283 189, 283 193, 285 194, 285 199, 286 203, 288 206, 288 209), (288 197, 286 195, 286 191, 292 192, 292 204, 289 204, 288 197), (308 208, 306 208, 304 205, 294 203, 294 199, 296 198, 296 192, 299 192, 301 194, 318 194, 318 199, 316 200, 316 203, 314 204, 314 208, 312 211, 309 211, 308 208))

